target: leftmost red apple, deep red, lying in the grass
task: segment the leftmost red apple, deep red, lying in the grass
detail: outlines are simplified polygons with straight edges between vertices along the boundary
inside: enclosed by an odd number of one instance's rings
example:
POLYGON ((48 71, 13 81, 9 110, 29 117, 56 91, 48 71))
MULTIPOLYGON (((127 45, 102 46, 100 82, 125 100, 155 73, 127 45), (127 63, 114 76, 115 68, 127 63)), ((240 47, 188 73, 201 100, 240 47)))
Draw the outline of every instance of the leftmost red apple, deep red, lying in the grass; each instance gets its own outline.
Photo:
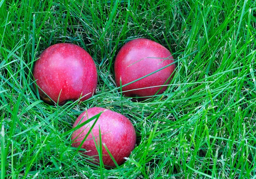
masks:
POLYGON ((97 87, 97 69, 92 57, 71 43, 58 43, 44 50, 35 62, 33 75, 41 99, 50 104, 63 105, 87 94, 80 99, 84 101, 92 97, 97 87))

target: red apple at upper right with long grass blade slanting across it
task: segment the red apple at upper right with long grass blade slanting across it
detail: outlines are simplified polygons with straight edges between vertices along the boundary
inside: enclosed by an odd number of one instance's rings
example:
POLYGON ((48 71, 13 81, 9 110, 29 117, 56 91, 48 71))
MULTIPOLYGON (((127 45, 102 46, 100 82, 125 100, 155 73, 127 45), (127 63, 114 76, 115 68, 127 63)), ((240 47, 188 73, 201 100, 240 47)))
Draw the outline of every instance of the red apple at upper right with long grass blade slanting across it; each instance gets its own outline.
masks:
MULTIPOLYGON (((116 85, 120 87, 120 79, 122 85, 125 85, 173 62, 171 52, 163 45, 145 38, 131 40, 120 49, 116 56, 114 65, 116 85)), ((123 94, 127 97, 140 96, 147 99, 146 97, 156 94, 160 89, 160 87, 147 87, 164 85, 174 70, 175 64, 124 86, 122 91, 127 92, 123 92, 123 94), (138 88, 145 89, 136 90, 138 88)), ((166 85, 169 84, 171 78, 166 82, 166 85)), ((158 94, 162 94, 166 88, 167 86, 163 86, 158 94)))

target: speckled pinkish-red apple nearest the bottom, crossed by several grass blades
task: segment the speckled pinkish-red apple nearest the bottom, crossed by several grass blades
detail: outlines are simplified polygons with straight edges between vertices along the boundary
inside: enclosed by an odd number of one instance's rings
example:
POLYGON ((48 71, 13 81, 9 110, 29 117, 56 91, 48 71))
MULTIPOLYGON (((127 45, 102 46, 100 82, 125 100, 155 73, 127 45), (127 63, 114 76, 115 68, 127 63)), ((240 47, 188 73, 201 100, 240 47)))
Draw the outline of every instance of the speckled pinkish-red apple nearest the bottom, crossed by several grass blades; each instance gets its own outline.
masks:
MULTIPOLYGON (((76 119, 73 128, 78 124, 85 122, 87 119, 90 119, 91 117, 99 114, 100 112, 102 112, 102 114, 99 116, 99 119, 97 120, 90 134, 87 136, 87 139, 82 144, 81 148, 87 150, 84 152, 84 155, 93 156, 95 159, 95 162, 93 163, 99 165, 99 153, 96 149, 93 136, 98 143, 100 128, 102 137, 103 164, 106 165, 107 169, 115 168, 116 165, 112 161, 103 144, 105 143, 118 165, 121 165, 123 162, 125 162, 124 157, 128 157, 131 154, 131 151, 134 149, 136 144, 136 132, 134 126, 128 118, 122 114, 105 108, 94 107, 84 111, 76 119)), ((83 125, 81 128, 73 132, 71 136, 72 147, 79 147, 81 141, 83 141, 84 137, 90 130, 90 126, 93 125, 95 120, 96 119, 93 119, 86 125, 83 125)))

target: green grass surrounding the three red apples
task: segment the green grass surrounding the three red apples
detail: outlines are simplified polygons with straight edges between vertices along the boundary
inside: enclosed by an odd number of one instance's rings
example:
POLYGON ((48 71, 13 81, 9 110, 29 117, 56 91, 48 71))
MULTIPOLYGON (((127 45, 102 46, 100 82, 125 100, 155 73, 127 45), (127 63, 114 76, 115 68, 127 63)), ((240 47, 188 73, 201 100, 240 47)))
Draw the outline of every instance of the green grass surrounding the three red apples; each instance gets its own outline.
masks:
POLYGON ((0 176, 16 178, 256 178, 255 0, 0 0, 0 176), (128 40, 168 48, 168 90, 121 97, 113 63, 128 40), (39 54, 75 43, 96 63, 97 93, 47 105, 33 87, 39 54), (128 161, 105 170, 71 147, 72 125, 99 106, 137 132, 128 161))

